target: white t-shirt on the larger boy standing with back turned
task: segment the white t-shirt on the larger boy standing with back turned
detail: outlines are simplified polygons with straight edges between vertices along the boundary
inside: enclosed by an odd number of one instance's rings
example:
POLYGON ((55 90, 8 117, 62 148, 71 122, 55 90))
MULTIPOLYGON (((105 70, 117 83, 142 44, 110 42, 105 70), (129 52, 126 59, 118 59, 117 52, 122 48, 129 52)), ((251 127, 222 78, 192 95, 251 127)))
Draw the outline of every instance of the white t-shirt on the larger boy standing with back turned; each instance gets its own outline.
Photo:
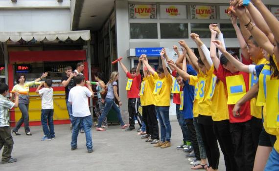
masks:
POLYGON ((72 102, 72 115, 74 117, 85 117, 91 115, 88 106, 88 97, 92 92, 85 86, 74 86, 69 92, 69 102, 72 102))

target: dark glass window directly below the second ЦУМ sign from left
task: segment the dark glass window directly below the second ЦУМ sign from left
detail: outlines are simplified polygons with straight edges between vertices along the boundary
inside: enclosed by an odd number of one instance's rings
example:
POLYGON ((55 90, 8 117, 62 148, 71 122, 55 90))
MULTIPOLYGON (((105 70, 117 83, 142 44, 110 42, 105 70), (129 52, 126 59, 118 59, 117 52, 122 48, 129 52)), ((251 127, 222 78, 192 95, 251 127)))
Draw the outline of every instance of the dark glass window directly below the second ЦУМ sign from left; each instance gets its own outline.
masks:
POLYGON ((161 38, 162 39, 187 39, 188 24, 187 23, 161 23, 161 38))

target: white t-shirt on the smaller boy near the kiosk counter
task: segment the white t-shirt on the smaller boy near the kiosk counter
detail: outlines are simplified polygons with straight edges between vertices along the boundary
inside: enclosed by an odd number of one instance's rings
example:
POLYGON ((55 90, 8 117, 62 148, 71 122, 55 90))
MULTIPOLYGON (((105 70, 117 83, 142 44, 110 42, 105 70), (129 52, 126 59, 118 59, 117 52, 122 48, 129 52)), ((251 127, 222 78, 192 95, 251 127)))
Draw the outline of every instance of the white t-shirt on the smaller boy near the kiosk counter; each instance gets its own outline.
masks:
POLYGON ((42 88, 39 90, 40 96, 42 96, 42 109, 53 109, 53 88, 42 88))

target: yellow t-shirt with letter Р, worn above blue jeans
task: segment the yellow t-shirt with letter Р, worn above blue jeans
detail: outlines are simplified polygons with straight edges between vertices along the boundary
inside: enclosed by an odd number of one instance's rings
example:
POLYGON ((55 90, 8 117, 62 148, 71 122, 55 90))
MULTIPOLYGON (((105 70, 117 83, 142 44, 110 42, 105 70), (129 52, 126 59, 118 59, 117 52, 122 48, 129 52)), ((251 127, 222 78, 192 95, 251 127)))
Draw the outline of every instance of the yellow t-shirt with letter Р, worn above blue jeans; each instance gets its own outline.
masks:
POLYGON ((170 74, 168 74, 168 76, 164 77, 163 79, 161 79, 157 72, 155 72, 154 76, 153 76, 154 80, 155 80, 155 86, 154 86, 154 90, 157 88, 158 89, 158 82, 162 83, 162 86, 160 86, 160 91, 158 92, 158 94, 153 94, 155 97, 155 106, 161 106, 161 107, 168 107, 170 106, 170 93, 171 93, 171 86, 172 86, 172 76, 170 74))

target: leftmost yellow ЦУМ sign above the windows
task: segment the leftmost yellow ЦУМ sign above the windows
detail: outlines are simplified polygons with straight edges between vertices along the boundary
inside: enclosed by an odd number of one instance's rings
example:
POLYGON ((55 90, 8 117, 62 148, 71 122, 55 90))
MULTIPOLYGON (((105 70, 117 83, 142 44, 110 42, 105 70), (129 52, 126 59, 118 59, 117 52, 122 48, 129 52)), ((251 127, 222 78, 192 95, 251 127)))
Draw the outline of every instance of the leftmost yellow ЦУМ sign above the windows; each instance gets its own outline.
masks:
POLYGON ((129 4, 130 19, 156 19, 156 4, 129 4))

